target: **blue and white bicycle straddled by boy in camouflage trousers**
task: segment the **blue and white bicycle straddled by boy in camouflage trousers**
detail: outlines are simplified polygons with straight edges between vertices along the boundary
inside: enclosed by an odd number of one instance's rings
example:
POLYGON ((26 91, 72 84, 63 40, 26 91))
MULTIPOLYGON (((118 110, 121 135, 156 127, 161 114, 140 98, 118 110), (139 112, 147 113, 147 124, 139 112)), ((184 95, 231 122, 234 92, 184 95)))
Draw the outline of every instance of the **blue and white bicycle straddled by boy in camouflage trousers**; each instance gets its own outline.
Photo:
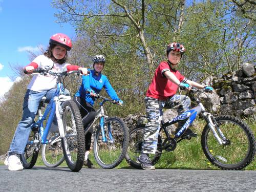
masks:
MULTIPOLYGON (((157 151, 156 154, 150 155, 153 165, 160 159, 163 151, 174 151, 177 143, 181 140, 191 139, 183 134, 200 114, 206 121, 201 136, 201 145, 205 156, 212 164, 222 169, 238 170, 243 169, 253 160, 256 153, 256 144, 250 127, 237 117, 221 115, 215 118, 212 114, 206 112, 198 98, 198 95, 204 91, 196 88, 191 89, 197 106, 167 122, 161 122, 157 151), (167 126, 184 120, 186 123, 180 131, 174 137, 171 137, 168 134, 167 126), (164 140, 162 140, 161 135, 165 137, 164 140)), ((141 152, 144 127, 145 124, 138 124, 130 130, 130 142, 125 159, 135 168, 141 168, 140 164, 136 162, 136 158, 141 152)))

